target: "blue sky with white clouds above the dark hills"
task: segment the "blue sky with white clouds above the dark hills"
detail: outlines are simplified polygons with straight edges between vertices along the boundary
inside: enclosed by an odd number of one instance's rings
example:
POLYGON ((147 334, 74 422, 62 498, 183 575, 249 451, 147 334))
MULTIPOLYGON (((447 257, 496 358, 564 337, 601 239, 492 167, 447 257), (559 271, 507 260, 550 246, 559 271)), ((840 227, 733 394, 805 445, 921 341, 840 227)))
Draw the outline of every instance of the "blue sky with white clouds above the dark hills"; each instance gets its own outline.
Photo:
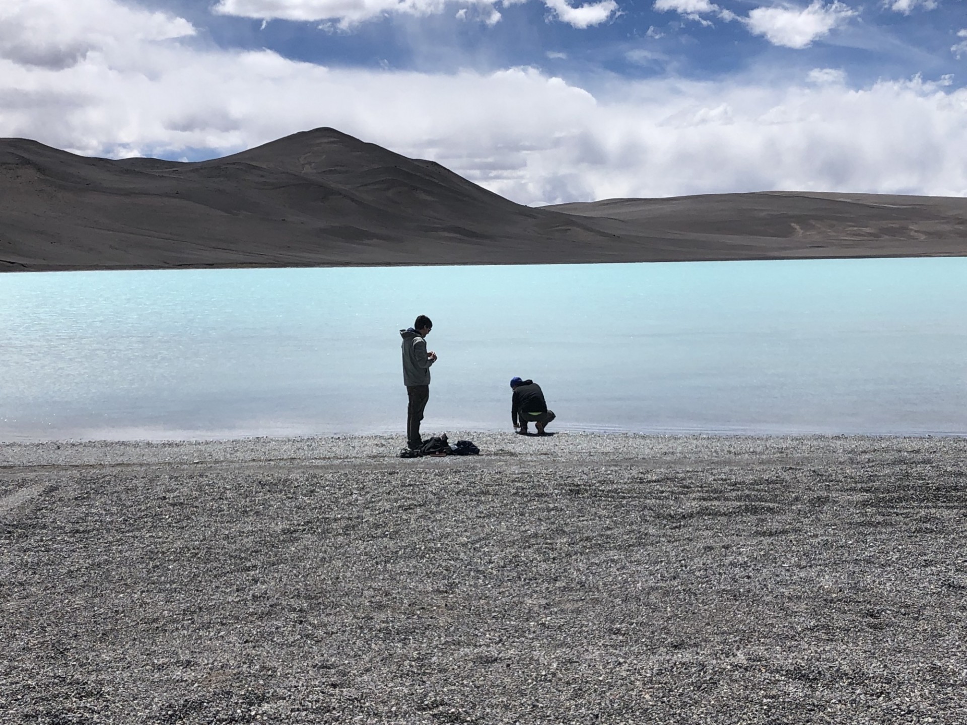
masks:
POLYGON ((967 195, 967 1, 0 0, 0 136, 201 160, 320 126, 528 204, 967 195))

